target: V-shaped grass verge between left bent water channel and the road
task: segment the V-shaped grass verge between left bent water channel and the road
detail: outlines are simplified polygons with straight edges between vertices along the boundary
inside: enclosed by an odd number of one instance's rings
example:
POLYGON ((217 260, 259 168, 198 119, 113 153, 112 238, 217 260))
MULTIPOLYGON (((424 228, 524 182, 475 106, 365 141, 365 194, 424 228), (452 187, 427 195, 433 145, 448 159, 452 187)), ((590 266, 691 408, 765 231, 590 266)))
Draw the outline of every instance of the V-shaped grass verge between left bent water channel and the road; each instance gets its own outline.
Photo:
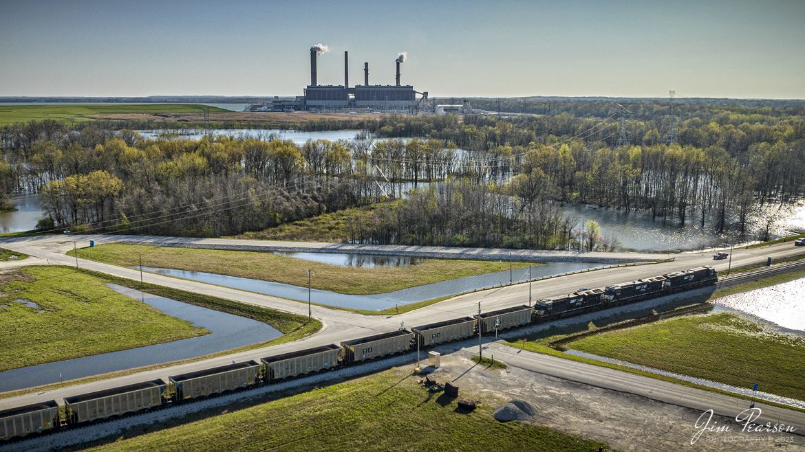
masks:
MULTIPOLYGON (((60 268, 67 269, 67 267, 60 267, 60 268)), ((74 272, 74 270, 70 271, 74 272)), ((114 284, 119 284, 120 286, 126 286, 132 289, 141 288, 139 281, 132 281, 124 277, 115 277, 112 275, 107 275, 105 273, 94 272, 92 270, 81 269, 79 271, 82 274, 97 277, 98 279, 101 279, 106 283, 110 282, 114 284)), ((312 320, 308 321, 308 318, 302 315, 289 314, 277 310, 270 310, 262 306, 247 305, 243 303, 233 302, 230 300, 225 300, 223 298, 210 297, 209 295, 195 294, 192 292, 185 292, 184 290, 171 289, 169 287, 156 286, 154 284, 148 284, 148 283, 142 286, 142 290, 149 294, 158 295, 160 297, 171 298, 174 300, 178 300, 180 302, 186 302, 196 306, 202 306, 209 309, 220 310, 221 312, 240 315, 241 317, 252 318, 254 320, 258 320, 259 322, 267 323, 271 327, 275 327, 277 330, 283 333, 283 335, 279 336, 279 338, 271 339, 266 342, 254 343, 251 345, 247 345, 245 347, 238 347, 232 350, 220 351, 218 353, 199 356, 188 360, 178 360, 169 363, 143 366, 140 368, 131 368, 118 372, 109 372, 106 374, 88 376, 76 380, 69 380, 63 383, 45 384, 35 388, 25 388, 16 391, 0 392, 0 398, 16 397, 31 392, 51 391, 56 388, 64 388, 66 386, 71 386, 74 384, 84 384, 98 380, 107 380, 118 376, 130 375, 137 372, 146 372, 149 370, 157 368, 165 368, 167 366, 172 365, 186 364, 200 360, 208 360, 209 358, 229 355, 230 353, 237 353, 239 351, 254 350, 255 348, 259 347, 268 347, 270 345, 287 343, 294 340, 303 339, 308 337, 309 335, 315 334, 317 331, 321 329, 322 326, 321 322, 316 318, 313 318, 312 320)))

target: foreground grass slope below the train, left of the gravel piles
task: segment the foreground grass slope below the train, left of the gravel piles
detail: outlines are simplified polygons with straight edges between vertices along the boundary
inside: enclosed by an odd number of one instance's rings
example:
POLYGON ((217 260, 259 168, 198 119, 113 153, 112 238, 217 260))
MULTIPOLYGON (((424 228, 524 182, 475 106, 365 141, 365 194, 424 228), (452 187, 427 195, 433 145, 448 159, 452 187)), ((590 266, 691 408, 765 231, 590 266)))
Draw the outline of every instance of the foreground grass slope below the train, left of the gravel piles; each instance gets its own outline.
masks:
POLYGON ((551 450, 605 445, 539 425, 495 421, 484 404, 459 413, 407 370, 343 384, 122 439, 91 450, 551 450))

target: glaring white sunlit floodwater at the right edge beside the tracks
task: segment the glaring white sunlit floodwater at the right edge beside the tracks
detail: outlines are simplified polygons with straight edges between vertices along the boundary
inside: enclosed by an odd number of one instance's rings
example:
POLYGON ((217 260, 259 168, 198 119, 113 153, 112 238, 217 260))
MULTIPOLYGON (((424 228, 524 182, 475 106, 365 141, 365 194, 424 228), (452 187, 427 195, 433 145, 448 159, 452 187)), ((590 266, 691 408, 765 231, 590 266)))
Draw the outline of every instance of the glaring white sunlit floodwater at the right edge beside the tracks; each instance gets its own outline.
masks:
POLYGON ((712 303, 751 314, 786 330, 805 331, 805 278, 742 294, 717 298, 712 303))

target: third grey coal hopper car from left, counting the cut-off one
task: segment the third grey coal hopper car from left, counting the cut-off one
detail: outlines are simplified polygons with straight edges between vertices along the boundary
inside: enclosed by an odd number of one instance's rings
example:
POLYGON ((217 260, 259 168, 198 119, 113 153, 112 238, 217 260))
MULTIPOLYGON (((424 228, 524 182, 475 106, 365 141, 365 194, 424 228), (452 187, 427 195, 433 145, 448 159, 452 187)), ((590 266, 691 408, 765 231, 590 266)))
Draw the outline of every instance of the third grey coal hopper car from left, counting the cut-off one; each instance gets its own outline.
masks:
POLYGON ((219 392, 246 388, 257 381, 260 364, 254 361, 227 364, 217 368, 171 376, 176 387, 176 400, 204 397, 219 392))

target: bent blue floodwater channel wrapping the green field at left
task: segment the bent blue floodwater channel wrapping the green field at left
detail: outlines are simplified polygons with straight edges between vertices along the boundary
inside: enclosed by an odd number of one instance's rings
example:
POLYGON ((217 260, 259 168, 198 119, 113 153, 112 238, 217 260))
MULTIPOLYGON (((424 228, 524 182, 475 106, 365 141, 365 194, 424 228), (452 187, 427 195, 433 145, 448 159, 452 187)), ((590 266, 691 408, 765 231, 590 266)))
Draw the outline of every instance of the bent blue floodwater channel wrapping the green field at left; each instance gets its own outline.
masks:
MULTIPOLYGON (((114 284, 110 284, 109 287, 120 294, 133 298, 133 302, 140 302, 141 294, 138 290, 114 284)), ((72 380, 105 372, 195 358, 218 351, 264 342, 282 335, 275 328, 250 318, 226 314, 151 294, 142 294, 142 296, 148 305, 163 311, 165 314, 183 318, 197 327, 204 327, 211 332, 208 335, 196 338, 181 339, 147 347, 112 351, 101 355, 84 356, 73 360, 57 361, 56 363, 39 364, 0 372, 0 392, 57 383, 60 378, 72 380)), ((58 332, 55 334, 58 334, 58 332)))

